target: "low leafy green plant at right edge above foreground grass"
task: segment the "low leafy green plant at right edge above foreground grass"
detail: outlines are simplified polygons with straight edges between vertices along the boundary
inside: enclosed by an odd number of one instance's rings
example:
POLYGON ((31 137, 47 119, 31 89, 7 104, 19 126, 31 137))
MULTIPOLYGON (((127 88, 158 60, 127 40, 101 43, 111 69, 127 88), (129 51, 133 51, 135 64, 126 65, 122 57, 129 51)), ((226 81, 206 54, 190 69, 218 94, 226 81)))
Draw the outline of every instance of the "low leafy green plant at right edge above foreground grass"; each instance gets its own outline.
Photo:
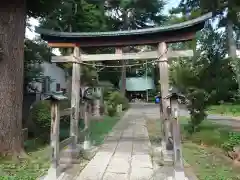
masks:
POLYGON ((228 140, 222 144, 222 148, 226 151, 232 151, 236 145, 240 145, 240 133, 229 132, 228 140))

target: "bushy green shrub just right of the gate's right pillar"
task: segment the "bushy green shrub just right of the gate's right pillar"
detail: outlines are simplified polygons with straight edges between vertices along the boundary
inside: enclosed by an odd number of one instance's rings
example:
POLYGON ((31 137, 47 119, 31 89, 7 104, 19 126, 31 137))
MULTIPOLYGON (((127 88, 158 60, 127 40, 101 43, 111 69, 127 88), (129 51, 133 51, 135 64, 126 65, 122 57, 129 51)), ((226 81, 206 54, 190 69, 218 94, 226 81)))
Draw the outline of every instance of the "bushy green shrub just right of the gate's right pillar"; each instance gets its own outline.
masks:
POLYGON ((186 61, 175 64, 171 70, 171 82, 187 98, 187 108, 190 111, 189 133, 196 132, 206 116, 208 93, 202 87, 199 74, 201 71, 186 61))

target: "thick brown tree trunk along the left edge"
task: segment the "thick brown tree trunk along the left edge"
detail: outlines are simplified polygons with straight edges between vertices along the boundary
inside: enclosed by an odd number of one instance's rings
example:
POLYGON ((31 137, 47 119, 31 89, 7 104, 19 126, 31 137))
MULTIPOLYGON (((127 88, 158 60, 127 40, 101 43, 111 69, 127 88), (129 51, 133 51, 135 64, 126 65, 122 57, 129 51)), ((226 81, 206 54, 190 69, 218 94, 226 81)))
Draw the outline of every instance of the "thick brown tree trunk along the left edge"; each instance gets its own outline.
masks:
POLYGON ((16 155, 23 150, 25 5, 25 0, 8 0, 0 6, 0 155, 16 155))

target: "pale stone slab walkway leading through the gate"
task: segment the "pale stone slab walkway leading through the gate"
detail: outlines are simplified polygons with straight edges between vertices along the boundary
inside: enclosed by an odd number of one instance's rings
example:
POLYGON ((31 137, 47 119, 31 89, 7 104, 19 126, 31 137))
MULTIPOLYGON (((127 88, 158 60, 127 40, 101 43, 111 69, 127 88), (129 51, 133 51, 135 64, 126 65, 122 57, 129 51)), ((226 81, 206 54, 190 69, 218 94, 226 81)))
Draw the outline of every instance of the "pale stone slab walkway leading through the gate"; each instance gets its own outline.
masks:
POLYGON ((130 109, 77 180, 151 180, 153 165, 144 112, 130 109))

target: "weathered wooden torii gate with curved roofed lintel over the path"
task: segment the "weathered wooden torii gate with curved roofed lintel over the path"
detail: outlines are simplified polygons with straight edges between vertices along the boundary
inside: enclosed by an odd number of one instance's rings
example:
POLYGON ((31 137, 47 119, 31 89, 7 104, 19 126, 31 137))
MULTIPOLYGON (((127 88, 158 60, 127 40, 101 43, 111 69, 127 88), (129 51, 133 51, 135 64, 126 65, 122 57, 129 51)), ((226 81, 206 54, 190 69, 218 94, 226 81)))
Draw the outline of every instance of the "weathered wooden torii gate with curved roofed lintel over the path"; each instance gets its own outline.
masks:
MULTIPOLYGON (((87 33, 72 33, 72 32, 55 32, 46 29, 36 29, 37 33, 41 34, 41 38, 48 42, 48 45, 53 48, 74 48, 73 55, 70 56, 53 56, 52 62, 57 63, 73 63, 72 69, 72 96, 71 96, 71 127, 70 136, 73 137, 73 148, 77 145, 78 139, 78 120, 79 120, 79 91, 80 91, 80 68, 82 62, 89 61, 114 61, 114 60, 129 60, 157 59, 160 70, 160 84, 162 95, 162 108, 160 108, 161 120, 163 124, 165 144, 169 144, 169 139, 180 143, 180 134, 172 133, 170 129, 170 115, 168 107, 170 101, 167 98, 169 93, 169 77, 168 77, 168 58, 173 57, 191 57, 192 50, 185 51, 168 51, 167 44, 175 42, 184 42, 192 40, 197 31, 204 27, 205 22, 212 17, 212 13, 205 14, 193 20, 183 23, 155 27, 141 30, 131 31, 114 31, 114 32, 87 32, 87 33), (140 52, 140 53, 122 53, 124 46, 138 45, 155 45, 156 51, 140 52), (115 47, 115 54, 82 54, 80 48, 86 47, 115 47)), ((179 144, 177 143, 177 144, 179 144)), ((173 143, 176 144, 176 143, 173 143)), ((167 145, 166 145, 167 146, 167 145)), ((174 147, 173 147, 174 148, 174 147)), ((167 149, 167 147, 165 147, 167 149)), ((165 151, 164 151, 165 152, 165 151)), ((175 152, 175 151, 174 151, 175 152)), ((178 152, 179 153, 179 152, 178 152)), ((181 154, 181 152, 179 153, 181 154)), ((174 154, 174 156, 179 156, 174 154)), ((179 163, 177 169, 179 169, 179 163)), ((183 165, 181 164, 181 173, 184 175, 183 165)), ((179 178, 181 175, 177 175, 179 178)))

